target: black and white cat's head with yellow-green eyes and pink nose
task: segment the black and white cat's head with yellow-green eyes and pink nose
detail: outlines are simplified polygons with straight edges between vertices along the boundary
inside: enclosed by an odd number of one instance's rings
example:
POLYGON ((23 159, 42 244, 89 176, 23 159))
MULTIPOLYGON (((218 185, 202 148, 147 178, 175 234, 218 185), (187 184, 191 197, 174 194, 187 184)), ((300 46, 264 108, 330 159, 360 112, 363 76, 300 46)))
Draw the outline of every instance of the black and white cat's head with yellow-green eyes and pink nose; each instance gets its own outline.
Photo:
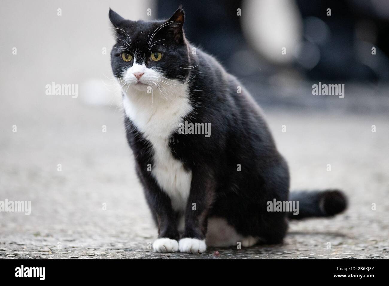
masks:
POLYGON ((126 20, 111 9, 109 19, 116 35, 112 72, 121 85, 145 91, 186 79, 190 60, 181 7, 166 21, 126 20))

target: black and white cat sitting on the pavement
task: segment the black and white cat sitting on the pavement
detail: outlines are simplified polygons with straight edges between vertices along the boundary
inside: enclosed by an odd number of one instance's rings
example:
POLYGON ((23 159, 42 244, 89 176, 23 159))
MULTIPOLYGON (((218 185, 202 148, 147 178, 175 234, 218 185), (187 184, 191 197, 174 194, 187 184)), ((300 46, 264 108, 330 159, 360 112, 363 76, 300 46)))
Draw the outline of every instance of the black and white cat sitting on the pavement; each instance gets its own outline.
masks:
POLYGON ((130 21, 111 9, 109 18, 127 139, 158 225, 155 251, 277 244, 288 219, 346 208, 337 190, 289 196, 287 163, 259 106, 244 88, 238 93, 240 82, 212 56, 187 41, 181 8, 167 21, 130 21), (185 122, 209 124, 210 136, 179 132, 185 122), (269 211, 273 200, 298 201, 299 214, 269 211))

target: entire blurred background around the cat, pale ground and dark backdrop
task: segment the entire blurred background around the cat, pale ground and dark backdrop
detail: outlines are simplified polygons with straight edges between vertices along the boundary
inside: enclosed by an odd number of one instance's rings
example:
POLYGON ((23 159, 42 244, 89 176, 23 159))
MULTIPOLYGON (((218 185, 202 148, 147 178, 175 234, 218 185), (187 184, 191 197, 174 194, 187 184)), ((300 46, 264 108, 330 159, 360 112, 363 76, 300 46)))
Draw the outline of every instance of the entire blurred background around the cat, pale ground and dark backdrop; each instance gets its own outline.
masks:
POLYGON ((30 200, 32 213, 0 212, 0 256, 58 242, 79 253, 148 251, 156 230, 124 135, 108 11, 167 19, 181 4, 187 39, 263 107, 291 189, 336 187, 350 197, 334 220, 291 225, 288 247, 325 257, 333 254, 321 243, 336 240, 336 255, 388 257, 385 0, 2 1, 0 200, 30 200), (47 95, 52 82, 77 85, 77 98, 47 95), (319 82, 345 84, 345 97, 313 95, 319 82))

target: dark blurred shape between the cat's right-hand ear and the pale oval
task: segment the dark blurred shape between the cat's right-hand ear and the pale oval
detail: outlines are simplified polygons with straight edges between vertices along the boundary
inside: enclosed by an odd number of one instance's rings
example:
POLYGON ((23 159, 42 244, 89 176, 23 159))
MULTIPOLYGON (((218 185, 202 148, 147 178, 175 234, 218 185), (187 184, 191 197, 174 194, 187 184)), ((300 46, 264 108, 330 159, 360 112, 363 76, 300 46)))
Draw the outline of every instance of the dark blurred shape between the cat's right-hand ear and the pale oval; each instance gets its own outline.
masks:
POLYGON ((187 39, 214 56, 228 72, 258 96, 259 82, 275 73, 271 63, 263 61, 242 32, 242 0, 169 0, 158 1, 158 17, 168 18, 180 6, 185 11, 187 39), (262 69, 262 70, 261 70, 262 69))

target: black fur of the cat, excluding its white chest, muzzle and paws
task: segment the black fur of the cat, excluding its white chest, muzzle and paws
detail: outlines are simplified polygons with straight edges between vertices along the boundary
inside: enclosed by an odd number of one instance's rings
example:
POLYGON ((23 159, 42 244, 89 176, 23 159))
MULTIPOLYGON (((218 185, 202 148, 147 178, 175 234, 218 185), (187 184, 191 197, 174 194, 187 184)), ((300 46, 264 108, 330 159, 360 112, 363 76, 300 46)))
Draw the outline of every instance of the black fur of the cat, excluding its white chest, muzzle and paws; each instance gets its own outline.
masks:
MULTIPOLYGON (((150 55, 148 37, 166 21, 124 20, 112 10, 109 17, 115 28, 125 31, 115 29, 117 43, 111 53, 114 75, 120 78, 123 69, 131 65, 121 60, 118 52, 121 40, 128 39, 126 34, 131 37, 131 48, 142 54, 137 63, 145 62, 147 67, 152 67, 154 63, 147 61, 150 55)), ((164 54, 158 62, 158 70, 170 79, 193 77, 189 89, 195 109, 183 121, 210 123, 212 130, 210 137, 176 132, 170 138, 171 153, 192 171, 193 177, 182 237, 204 239, 207 219, 214 216, 225 218, 242 235, 261 237, 265 243, 282 242, 289 215, 266 211, 266 202, 289 200, 289 171, 259 106, 212 56, 201 49, 196 49, 196 54, 191 52, 193 46, 182 32, 184 12, 181 9, 168 21, 175 22, 162 28, 153 39, 165 39, 165 45, 158 46, 158 51, 164 54), (242 92, 238 93, 240 87, 242 92), (193 203, 197 205, 196 211, 192 211, 193 203)), ((158 225, 159 237, 179 239, 177 219, 180 214, 173 211, 170 198, 147 171, 147 164, 153 161, 151 144, 130 119, 125 119, 125 125, 128 142, 135 154, 137 174, 158 225)), ((299 218, 332 216, 345 209, 345 198, 339 192, 336 195, 300 193, 297 199, 300 200, 299 218), (320 209, 321 200, 325 211, 320 209)))

